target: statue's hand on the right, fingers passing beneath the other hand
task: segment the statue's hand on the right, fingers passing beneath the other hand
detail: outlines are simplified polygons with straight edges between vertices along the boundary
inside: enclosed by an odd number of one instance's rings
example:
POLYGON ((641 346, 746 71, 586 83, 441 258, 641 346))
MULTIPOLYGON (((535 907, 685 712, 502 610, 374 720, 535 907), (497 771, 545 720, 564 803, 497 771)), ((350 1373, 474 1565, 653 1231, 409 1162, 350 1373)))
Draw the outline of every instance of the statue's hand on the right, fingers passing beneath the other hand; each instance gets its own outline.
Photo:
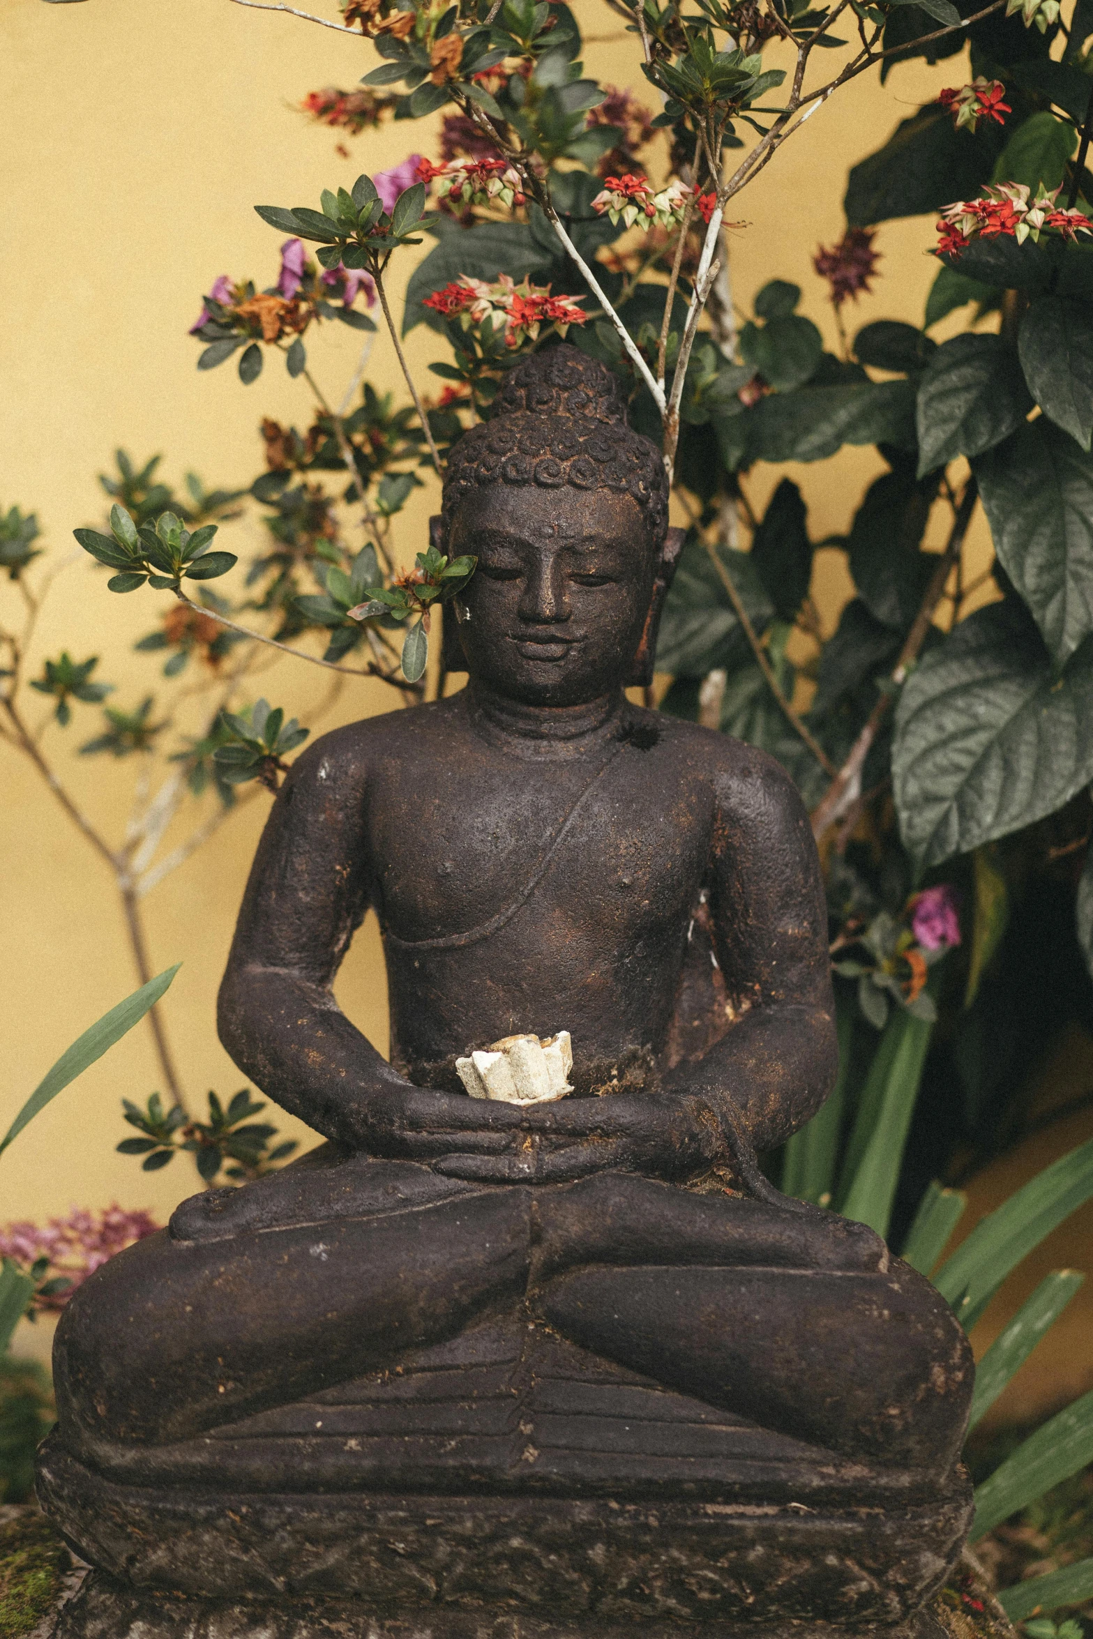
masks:
POLYGON ((438 1160, 436 1170, 483 1183, 562 1183, 610 1169, 688 1178, 721 1154, 713 1113, 696 1098, 672 1093, 574 1098, 518 1115, 516 1141, 510 1134, 497 1149, 460 1149, 438 1160))

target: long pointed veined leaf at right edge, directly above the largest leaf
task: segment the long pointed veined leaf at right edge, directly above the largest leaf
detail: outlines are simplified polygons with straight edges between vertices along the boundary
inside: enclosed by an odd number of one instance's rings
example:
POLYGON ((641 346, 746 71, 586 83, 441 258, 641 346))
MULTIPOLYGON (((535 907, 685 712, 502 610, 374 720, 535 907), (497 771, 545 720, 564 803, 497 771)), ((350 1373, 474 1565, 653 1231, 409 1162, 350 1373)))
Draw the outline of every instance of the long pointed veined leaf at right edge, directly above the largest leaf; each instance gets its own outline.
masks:
POLYGON ((1041 418, 973 470, 998 561, 1062 665, 1093 631, 1093 457, 1041 418))

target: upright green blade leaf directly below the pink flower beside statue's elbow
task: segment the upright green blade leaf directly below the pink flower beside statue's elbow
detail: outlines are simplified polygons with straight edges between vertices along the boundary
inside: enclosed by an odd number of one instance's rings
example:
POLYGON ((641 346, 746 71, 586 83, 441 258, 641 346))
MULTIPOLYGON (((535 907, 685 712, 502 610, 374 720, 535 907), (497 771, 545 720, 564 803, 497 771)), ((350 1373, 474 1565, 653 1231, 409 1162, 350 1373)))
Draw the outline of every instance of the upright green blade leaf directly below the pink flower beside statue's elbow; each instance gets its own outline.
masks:
MULTIPOLYGON (((911 1129, 932 1028, 906 1008, 896 1008, 885 1024, 885 1034, 862 1090, 854 1137, 864 1123, 869 1123, 869 1136, 860 1144, 862 1159, 852 1172, 847 1159, 844 1170, 849 1174, 849 1185, 839 1211, 844 1218, 869 1224, 882 1236, 888 1233, 903 1149, 911 1129)), ((855 1149, 854 1141, 850 1149, 855 1149)))

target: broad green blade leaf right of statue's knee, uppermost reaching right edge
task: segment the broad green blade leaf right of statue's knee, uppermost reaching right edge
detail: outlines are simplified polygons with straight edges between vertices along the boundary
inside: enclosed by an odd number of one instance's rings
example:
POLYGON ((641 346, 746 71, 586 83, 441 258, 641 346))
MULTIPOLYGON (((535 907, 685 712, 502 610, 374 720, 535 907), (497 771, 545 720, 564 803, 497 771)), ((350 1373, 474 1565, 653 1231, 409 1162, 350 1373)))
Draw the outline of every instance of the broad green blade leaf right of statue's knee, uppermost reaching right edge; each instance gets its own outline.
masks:
POLYGON ((934 1277, 970 1331, 1003 1280, 1034 1246, 1093 1195, 1093 1139, 1044 1167, 975 1226, 934 1277))

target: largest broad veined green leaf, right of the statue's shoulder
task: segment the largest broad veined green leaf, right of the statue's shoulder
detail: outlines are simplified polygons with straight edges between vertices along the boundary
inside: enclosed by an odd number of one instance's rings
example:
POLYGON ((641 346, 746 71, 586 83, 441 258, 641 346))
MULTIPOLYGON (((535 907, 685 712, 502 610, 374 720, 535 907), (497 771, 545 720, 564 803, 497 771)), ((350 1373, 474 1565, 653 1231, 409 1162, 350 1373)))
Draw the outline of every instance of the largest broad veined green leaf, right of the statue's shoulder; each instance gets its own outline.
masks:
POLYGON ((1093 646, 1059 679, 1014 600, 919 661, 896 706, 891 777, 918 870, 1062 808, 1093 779, 1093 646))

